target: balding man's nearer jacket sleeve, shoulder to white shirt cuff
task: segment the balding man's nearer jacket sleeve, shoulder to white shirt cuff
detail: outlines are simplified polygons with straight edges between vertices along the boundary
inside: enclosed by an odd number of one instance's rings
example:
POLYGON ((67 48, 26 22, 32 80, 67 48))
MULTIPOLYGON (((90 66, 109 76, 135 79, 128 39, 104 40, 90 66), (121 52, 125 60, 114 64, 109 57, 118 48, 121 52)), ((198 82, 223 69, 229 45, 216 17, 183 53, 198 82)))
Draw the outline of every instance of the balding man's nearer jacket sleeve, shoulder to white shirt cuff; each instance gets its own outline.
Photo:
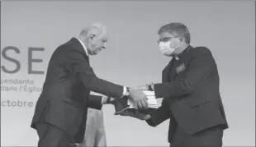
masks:
POLYGON ((80 53, 75 49, 70 49, 67 54, 67 69, 73 72, 73 74, 78 77, 78 80, 83 82, 85 89, 111 96, 113 98, 121 98, 123 86, 98 78, 94 74, 92 67, 90 67, 83 53, 80 53))

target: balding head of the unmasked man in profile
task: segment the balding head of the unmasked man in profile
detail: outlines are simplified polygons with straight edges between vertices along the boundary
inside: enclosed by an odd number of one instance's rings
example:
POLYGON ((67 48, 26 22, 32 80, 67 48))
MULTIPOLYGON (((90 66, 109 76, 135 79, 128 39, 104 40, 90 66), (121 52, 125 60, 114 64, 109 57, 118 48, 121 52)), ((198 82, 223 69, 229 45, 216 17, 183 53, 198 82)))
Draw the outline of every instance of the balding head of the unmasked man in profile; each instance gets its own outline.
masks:
POLYGON ((83 41, 89 54, 96 55, 106 48, 107 28, 101 23, 92 23, 83 28, 78 38, 83 41))

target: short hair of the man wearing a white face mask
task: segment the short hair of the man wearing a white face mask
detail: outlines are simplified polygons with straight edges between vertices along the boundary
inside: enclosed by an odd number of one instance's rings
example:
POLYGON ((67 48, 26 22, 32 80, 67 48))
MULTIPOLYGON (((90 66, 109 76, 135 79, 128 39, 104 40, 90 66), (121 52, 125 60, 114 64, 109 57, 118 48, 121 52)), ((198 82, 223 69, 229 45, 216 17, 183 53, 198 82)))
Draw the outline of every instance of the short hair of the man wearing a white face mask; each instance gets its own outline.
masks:
POLYGON ((185 39, 185 42, 187 44, 190 44, 190 33, 187 29, 187 26, 183 23, 173 22, 167 25, 163 25, 159 29, 158 34, 162 34, 163 32, 173 34, 174 37, 182 37, 183 39, 185 39))

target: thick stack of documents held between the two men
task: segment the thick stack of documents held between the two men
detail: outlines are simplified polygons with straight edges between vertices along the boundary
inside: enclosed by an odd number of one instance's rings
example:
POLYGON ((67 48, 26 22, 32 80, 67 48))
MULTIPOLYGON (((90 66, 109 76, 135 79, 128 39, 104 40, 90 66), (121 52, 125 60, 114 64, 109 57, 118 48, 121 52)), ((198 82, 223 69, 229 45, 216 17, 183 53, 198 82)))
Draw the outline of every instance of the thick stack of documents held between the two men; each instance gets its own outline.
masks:
POLYGON ((149 114, 149 113, 152 113, 155 109, 160 107, 157 99, 154 96, 154 91, 143 90, 143 92, 148 98, 147 101, 149 103, 149 106, 148 106, 149 108, 136 110, 135 104, 132 101, 130 101, 130 99, 125 97, 123 99, 116 101, 116 103, 114 103, 115 110, 116 110, 115 114, 117 115, 123 111, 139 111, 140 113, 149 114))

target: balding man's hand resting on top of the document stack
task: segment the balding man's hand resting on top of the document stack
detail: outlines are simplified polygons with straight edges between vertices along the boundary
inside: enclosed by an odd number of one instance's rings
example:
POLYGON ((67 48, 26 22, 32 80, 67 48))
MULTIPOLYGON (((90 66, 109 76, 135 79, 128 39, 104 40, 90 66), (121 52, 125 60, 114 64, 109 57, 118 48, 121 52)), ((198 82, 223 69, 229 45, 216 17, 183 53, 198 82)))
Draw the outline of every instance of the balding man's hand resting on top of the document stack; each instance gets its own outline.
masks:
POLYGON ((135 108, 148 108, 147 96, 142 90, 134 90, 130 88, 128 98, 135 103, 135 108))

